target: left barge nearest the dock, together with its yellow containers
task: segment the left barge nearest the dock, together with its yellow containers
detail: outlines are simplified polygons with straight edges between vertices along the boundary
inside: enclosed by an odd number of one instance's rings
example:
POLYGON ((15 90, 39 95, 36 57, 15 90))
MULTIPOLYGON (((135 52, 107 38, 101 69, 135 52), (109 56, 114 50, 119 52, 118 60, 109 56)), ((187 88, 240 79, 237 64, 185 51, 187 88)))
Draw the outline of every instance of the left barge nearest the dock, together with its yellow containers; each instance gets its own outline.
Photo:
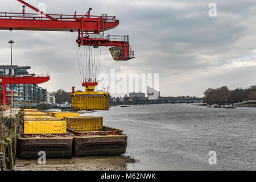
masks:
POLYGON ((47 158, 70 158, 73 137, 67 132, 67 122, 38 110, 24 110, 23 133, 18 135, 19 158, 38 158, 45 151, 47 158))

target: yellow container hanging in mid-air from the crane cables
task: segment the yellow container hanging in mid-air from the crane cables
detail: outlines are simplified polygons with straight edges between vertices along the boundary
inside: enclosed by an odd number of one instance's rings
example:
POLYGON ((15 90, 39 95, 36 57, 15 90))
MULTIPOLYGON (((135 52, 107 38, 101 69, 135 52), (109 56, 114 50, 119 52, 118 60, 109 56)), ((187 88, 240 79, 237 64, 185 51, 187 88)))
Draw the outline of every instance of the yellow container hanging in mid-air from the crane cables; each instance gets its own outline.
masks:
POLYGON ((77 110, 109 110, 108 95, 76 94, 71 96, 71 109, 77 110))

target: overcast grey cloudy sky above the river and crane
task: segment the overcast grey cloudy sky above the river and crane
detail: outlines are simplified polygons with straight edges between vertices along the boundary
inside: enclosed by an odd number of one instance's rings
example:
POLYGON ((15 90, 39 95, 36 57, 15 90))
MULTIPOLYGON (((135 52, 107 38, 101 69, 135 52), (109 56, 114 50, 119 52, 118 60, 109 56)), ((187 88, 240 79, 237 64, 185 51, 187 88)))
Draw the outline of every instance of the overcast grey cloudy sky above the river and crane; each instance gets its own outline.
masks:
MULTIPOLYGON (((102 48, 101 73, 159 73, 162 96, 203 96, 205 89, 256 84, 256 3, 243 1, 28 1, 46 4, 48 14, 115 15, 112 35, 129 35, 135 59, 116 62, 102 48), (210 17, 209 3, 217 16, 210 17)), ((21 12, 22 4, 1 0, 0 12, 21 12)), ((33 12, 26 9, 27 12, 33 12)), ((31 73, 49 72, 42 84, 49 91, 82 89, 76 53, 76 32, 0 31, 0 64, 30 65, 31 73)), ((135 90, 138 91, 138 90, 135 90)))

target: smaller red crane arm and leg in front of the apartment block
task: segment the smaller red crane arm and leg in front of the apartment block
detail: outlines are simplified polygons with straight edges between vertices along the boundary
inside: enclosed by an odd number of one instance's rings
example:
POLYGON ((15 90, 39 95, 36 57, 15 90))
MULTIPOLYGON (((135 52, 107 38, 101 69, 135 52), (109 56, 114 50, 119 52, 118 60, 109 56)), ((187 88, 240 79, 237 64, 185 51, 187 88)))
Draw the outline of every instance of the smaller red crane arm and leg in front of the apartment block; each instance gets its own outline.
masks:
POLYGON ((3 106, 6 106, 7 84, 42 84, 49 81, 49 75, 15 75, 0 76, 0 84, 3 86, 3 106))

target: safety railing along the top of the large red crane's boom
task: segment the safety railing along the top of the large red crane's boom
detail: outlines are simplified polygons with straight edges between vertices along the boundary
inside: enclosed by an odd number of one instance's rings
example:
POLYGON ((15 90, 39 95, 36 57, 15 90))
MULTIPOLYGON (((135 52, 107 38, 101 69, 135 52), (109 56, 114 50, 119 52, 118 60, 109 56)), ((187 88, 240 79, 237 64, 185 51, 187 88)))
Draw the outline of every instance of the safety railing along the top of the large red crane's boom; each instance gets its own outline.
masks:
MULTIPOLYGON (((65 20, 65 21, 76 21, 77 18, 102 18, 105 22, 115 22, 115 16, 108 16, 108 15, 65 15, 65 14, 48 14, 55 20, 65 20)), ((26 19, 26 20, 50 20, 49 18, 45 17, 42 14, 35 14, 35 13, 0 13, 0 19, 26 19)))

